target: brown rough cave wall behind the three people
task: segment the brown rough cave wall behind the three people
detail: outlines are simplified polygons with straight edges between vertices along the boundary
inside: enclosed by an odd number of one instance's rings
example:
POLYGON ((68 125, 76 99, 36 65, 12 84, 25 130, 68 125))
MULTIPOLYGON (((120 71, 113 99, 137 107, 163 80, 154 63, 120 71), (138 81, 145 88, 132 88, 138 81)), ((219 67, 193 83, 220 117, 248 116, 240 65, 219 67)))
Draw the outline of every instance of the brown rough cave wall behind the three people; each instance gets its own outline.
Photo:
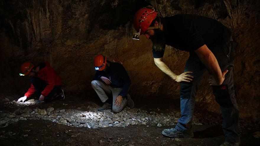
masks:
MULTIPOLYGON (((222 22, 232 30, 235 42, 234 84, 241 117, 258 119, 260 55, 259 1, 250 0, 3 0, 0 9, 1 96, 22 95, 28 77, 19 77, 19 66, 46 60, 63 79, 70 95, 96 97, 90 82, 97 54, 113 60, 118 55, 131 78, 134 98, 179 98, 179 83, 172 81, 153 63, 152 43, 144 36, 132 40, 134 13, 155 6, 165 17, 197 14, 222 22), (253 112, 252 112, 253 111, 253 112)), ((189 54, 167 46, 164 60, 175 73, 182 73, 189 54)), ((201 82, 196 104, 219 112, 207 83, 201 82)), ((18 98, 18 97, 15 97, 18 98)), ((157 99, 155 99, 157 100, 157 99)))

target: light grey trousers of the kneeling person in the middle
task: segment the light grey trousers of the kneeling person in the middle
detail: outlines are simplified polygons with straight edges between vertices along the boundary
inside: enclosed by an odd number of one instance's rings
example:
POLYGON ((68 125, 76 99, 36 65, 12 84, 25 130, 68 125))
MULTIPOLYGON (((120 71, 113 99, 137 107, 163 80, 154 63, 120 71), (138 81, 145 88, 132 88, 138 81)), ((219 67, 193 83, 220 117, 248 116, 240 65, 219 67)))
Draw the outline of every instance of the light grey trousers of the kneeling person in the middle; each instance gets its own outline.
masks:
POLYGON ((115 100, 116 100, 117 96, 119 95, 120 91, 122 90, 122 88, 112 88, 108 84, 104 83, 103 81, 99 81, 99 80, 91 81, 91 86, 96 91, 96 93, 98 94, 98 97, 100 98, 100 100, 103 103, 106 100, 108 100, 107 95, 112 94, 112 96, 113 96, 112 111, 113 112, 119 113, 126 106, 126 103, 127 103, 126 98, 123 98, 121 106, 116 106, 116 105, 114 106, 115 100))

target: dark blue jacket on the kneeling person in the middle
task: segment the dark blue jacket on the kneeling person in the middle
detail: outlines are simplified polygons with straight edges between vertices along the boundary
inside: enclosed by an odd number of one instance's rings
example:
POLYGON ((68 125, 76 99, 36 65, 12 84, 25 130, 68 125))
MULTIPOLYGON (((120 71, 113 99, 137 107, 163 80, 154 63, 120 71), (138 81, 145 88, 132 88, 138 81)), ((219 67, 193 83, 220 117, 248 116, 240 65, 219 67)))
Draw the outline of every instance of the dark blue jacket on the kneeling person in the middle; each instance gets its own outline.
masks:
POLYGON ((127 91, 130 86, 130 78, 124 68, 120 63, 109 62, 110 66, 105 69, 105 71, 97 71, 93 80, 100 80, 101 76, 107 77, 111 80, 110 86, 112 88, 122 88, 119 95, 126 96, 127 91))

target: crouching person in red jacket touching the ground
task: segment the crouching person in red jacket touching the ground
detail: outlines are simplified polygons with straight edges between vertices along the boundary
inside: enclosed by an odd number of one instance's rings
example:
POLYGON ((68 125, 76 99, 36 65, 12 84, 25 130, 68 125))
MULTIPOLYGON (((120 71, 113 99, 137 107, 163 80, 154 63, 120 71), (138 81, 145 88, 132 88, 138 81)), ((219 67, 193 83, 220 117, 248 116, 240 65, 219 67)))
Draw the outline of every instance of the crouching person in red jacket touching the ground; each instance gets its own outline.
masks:
POLYGON ((20 68, 20 76, 30 76, 31 87, 25 95, 18 99, 17 102, 24 102, 27 98, 38 93, 39 100, 37 102, 49 102, 53 99, 64 99, 64 92, 61 90, 61 78, 50 66, 50 63, 43 62, 34 66, 32 63, 23 63, 20 68))

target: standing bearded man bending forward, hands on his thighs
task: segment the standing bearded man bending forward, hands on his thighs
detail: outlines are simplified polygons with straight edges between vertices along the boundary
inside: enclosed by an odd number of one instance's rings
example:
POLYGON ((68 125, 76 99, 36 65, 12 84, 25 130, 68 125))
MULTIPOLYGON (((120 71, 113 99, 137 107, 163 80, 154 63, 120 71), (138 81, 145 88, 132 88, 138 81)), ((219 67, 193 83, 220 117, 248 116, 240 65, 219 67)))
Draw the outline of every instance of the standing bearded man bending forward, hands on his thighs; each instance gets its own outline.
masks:
POLYGON ((181 117, 175 128, 164 129, 168 137, 193 137, 192 117, 199 82, 208 70, 209 85, 223 117, 225 142, 221 146, 240 145, 239 110, 233 85, 233 40, 231 31, 220 22, 203 16, 178 14, 159 17, 152 7, 140 9, 134 16, 133 39, 145 35, 152 40, 157 67, 181 84, 181 117), (180 75, 163 62, 165 45, 189 52, 184 72, 180 75))

